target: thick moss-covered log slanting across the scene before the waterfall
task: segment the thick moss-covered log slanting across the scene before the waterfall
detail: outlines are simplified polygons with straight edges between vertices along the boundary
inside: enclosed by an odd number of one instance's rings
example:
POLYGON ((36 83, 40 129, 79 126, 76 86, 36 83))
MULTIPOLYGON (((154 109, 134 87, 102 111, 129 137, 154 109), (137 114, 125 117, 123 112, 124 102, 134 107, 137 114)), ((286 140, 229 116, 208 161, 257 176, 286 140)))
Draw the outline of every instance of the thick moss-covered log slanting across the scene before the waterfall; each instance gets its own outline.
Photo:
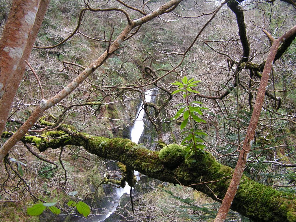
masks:
MULTIPOLYGON (((90 153, 110 160, 118 160, 129 169, 138 170, 151 178, 173 184, 190 186, 221 202, 226 194, 233 169, 218 163, 208 152, 200 152, 187 160, 180 156, 182 146, 174 144, 164 147, 172 155, 178 150, 178 158, 167 163, 159 152, 139 147, 129 139, 91 136, 76 133, 68 136, 62 131, 47 132, 37 136, 24 136, 22 141, 32 143, 42 152, 48 148, 65 145, 83 146, 90 153), (58 137, 58 138, 55 138, 58 137), (175 163, 171 163, 175 161, 175 163)), ((296 222, 296 196, 279 192, 270 186, 259 184, 243 176, 231 209, 252 219, 252 221, 296 222)))

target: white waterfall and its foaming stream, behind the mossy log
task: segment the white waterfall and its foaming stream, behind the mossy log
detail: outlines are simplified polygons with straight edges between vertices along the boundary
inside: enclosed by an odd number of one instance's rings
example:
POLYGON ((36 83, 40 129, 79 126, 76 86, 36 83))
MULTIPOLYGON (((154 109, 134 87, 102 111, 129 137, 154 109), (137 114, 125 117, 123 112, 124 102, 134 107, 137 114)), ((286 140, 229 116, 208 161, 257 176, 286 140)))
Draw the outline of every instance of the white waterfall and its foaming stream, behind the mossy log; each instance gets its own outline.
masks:
MULTIPOLYGON (((153 96, 153 92, 157 91, 157 88, 154 89, 148 89, 145 92, 145 101, 146 102, 150 102, 151 98, 153 96)), ((136 120, 133 124, 133 128, 131 129, 131 141, 138 143, 139 139, 144 131, 144 116, 145 116, 145 111, 143 108, 143 101, 141 101, 141 105, 139 106, 137 115, 136 115, 136 120)), ((139 176, 139 172, 135 171, 135 175, 137 180, 140 179, 139 176)), ((94 218, 92 218, 91 220, 87 220, 87 221, 91 221, 91 222, 102 222, 105 221, 108 217, 110 217, 110 215, 112 215, 112 213, 115 212, 116 208, 119 205, 120 202, 120 197, 122 197, 123 194, 127 193, 130 194, 130 190, 131 187, 128 186, 128 184, 126 183, 126 186, 124 188, 120 187, 120 188, 113 188, 113 194, 112 194, 112 201, 108 202, 108 205, 106 206, 106 214, 104 215, 97 215, 94 218)))

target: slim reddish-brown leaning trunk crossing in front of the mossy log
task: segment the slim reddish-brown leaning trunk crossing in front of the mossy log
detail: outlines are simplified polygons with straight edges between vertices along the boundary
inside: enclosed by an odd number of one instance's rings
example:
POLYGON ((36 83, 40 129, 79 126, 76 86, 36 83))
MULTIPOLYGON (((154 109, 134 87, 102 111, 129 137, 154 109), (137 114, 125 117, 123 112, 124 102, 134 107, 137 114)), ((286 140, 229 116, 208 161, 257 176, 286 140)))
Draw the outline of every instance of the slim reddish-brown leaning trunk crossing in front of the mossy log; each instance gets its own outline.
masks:
POLYGON ((229 184, 228 190, 225 194, 225 197, 222 201, 221 207, 218 211, 218 214, 215 218, 215 222, 224 222, 226 219, 226 216, 228 214, 228 211, 231 207, 232 201, 234 200, 234 195, 237 192, 237 189, 239 187, 239 183, 241 181, 242 175, 244 173, 244 167, 247 163, 247 156, 251 150, 252 142, 254 140, 254 135, 255 135, 255 129, 257 127, 257 123, 260 117, 260 112, 262 110, 262 104, 264 101, 265 97, 265 91, 266 91, 266 86, 268 83, 268 78, 269 78, 269 73, 271 72, 272 69, 272 64, 274 61, 274 58, 276 56, 276 52, 280 46, 280 44, 290 36, 296 33, 296 25, 291 28, 289 31, 284 33, 281 37, 278 39, 274 40, 269 54, 266 59, 266 63, 263 69, 261 81, 260 81, 260 86, 257 92, 256 96, 256 101, 255 101, 255 106, 252 112, 252 117, 250 119, 249 126, 247 128, 247 135, 244 139, 244 144, 242 149, 239 152, 239 159, 237 161, 237 165, 234 168, 234 174, 232 176, 231 182, 229 184))

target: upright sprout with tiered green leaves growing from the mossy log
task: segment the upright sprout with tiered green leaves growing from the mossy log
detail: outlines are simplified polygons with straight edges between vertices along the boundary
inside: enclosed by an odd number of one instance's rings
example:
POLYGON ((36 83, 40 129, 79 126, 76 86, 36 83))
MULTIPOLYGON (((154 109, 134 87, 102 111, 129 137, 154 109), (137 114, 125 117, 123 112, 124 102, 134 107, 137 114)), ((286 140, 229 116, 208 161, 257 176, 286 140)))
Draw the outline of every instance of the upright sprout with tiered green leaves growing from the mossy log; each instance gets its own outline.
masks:
POLYGON ((186 99, 186 103, 181 103, 178 105, 181 105, 182 107, 178 112, 176 112, 176 115, 173 117, 173 119, 178 119, 181 115, 183 115, 184 120, 181 123, 181 130, 183 130, 182 134, 185 134, 185 138, 182 140, 182 145, 186 145, 186 158, 189 157, 191 152, 195 155, 197 152, 203 152, 203 149, 205 148, 205 145, 203 144, 203 140, 200 139, 200 136, 206 136, 207 134, 202 132, 201 130, 195 130, 194 128, 194 122, 200 123, 204 122, 205 120, 202 120, 197 115, 202 115, 202 109, 207 109, 205 107, 201 107, 199 104, 202 104, 201 102, 192 101, 189 102, 189 96, 192 93, 198 93, 198 91, 192 89, 192 87, 196 87, 197 84, 200 81, 194 81, 194 79, 188 80, 186 76, 182 79, 182 82, 175 81, 172 83, 173 85, 178 86, 178 89, 173 91, 172 94, 176 94, 178 92, 183 92, 183 98, 186 99), (187 124, 190 125, 189 130, 184 130, 187 124))

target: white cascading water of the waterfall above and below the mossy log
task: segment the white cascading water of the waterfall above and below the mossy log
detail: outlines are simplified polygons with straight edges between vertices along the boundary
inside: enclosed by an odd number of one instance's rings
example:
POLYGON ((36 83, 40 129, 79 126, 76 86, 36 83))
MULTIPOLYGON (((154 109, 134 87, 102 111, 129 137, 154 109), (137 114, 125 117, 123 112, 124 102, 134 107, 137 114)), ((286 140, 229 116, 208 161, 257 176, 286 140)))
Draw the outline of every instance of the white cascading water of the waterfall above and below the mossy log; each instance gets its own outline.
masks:
MULTIPOLYGON (((151 98, 152 98, 152 94, 153 91, 157 90, 157 88, 154 89, 148 89, 145 92, 145 101, 146 102, 150 102, 151 98)), ((139 110, 137 112, 136 115, 136 120, 135 123, 133 124, 133 128, 131 129, 131 141, 138 143, 139 139, 144 131, 144 116, 145 116, 145 111, 143 108, 143 101, 141 102, 141 106, 139 107, 139 110)), ((135 171, 135 175, 137 180, 140 179, 139 176, 139 172, 135 171)), ((124 188, 120 187, 120 188, 115 188, 115 192, 116 192, 116 198, 114 201, 116 201, 113 206, 111 207, 111 209, 109 209, 110 211, 105 215, 105 217, 99 221, 93 221, 93 222, 102 222, 104 220, 106 220, 112 213, 115 212, 117 206, 119 205, 119 201, 120 201, 120 197, 124 194, 130 194, 131 191, 131 187, 128 186, 128 183, 126 183, 126 186, 124 188)))

